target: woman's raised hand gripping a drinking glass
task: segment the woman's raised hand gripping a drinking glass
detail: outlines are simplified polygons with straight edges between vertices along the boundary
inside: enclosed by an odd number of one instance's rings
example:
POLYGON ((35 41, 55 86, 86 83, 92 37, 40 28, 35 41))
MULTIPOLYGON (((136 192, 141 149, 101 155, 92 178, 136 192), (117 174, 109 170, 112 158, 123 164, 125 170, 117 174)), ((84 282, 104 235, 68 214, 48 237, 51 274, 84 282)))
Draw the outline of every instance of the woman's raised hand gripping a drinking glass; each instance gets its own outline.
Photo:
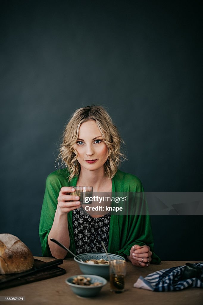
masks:
POLYGON ((77 195, 69 195, 74 192, 75 188, 63 186, 59 192, 57 209, 62 214, 67 214, 80 206, 80 197, 77 195))

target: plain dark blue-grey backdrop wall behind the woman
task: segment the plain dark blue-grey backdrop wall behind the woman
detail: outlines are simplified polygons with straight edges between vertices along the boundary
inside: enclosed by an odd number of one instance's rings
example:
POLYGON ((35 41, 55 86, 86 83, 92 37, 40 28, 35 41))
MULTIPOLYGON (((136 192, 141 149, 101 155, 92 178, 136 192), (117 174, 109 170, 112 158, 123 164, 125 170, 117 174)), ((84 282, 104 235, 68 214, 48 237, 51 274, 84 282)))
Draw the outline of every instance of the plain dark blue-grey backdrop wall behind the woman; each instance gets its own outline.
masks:
MULTIPOLYGON (((74 109, 102 104, 146 191, 202 191, 201 5, 1 4, 1 223, 41 255, 47 175, 74 109)), ((202 216, 153 216, 162 260, 202 260, 202 216)))

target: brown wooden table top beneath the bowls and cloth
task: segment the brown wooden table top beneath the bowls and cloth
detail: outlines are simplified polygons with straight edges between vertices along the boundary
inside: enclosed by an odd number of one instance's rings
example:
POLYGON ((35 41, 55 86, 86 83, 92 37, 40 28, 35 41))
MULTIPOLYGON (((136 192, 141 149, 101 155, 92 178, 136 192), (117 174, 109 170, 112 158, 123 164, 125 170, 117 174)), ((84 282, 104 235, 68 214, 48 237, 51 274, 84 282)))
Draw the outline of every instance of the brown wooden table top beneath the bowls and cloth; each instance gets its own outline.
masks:
MULTIPOLYGON (((35 257, 39 260, 48 262, 53 260, 48 257, 35 257)), ((62 267, 66 274, 50 278, 44 281, 34 282, 27 285, 4 289, 0 291, 0 296, 25 296, 25 302, 20 304, 36 305, 63 305, 63 304, 90 304, 90 305, 166 305, 166 304, 203 304, 203 289, 187 288, 181 291, 172 292, 152 292, 145 289, 137 289, 133 284, 140 275, 145 277, 147 274, 165 268, 185 265, 185 261, 162 261, 160 265, 150 265, 147 268, 134 267, 131 262, 127 262, 127 274, 125 288, 126 291, 114 294, 109 290, 109 282, 105 285, 100 294, 94 298, 81 299, 77 297, 70 287, 65 283, 65 279, 72 275, 81 274, 78 264, 73 259, 64 260, 62 267)), ((191 262, 197 263, 197 262, 191 262)), ((0 304, 15 304, 13 301, 3 301, 0 304)), ((18 302, 19 304, 19 302, 18 302)))

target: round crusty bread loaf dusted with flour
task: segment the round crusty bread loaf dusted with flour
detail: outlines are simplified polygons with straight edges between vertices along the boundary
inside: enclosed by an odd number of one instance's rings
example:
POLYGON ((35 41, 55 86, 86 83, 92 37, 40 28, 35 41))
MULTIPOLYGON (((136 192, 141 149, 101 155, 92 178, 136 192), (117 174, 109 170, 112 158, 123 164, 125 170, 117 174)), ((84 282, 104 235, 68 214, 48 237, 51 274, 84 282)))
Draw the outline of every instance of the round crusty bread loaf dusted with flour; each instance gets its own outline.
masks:
POLYGON ((32 268, 34 263, 30 249, 11 234, 0 234, 0 273, 18 273, 32 268))

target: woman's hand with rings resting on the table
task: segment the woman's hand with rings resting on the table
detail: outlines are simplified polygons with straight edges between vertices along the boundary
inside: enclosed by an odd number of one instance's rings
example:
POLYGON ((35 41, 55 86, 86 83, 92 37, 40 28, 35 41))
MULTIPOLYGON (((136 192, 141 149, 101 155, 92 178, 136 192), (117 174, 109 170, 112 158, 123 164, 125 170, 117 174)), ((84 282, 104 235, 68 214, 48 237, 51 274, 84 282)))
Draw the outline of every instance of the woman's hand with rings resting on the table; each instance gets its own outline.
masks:
POLYGON ((130 249, 130 256, 127 256, 131 260, 132 264, 137 267, 148 267, 151 262, 152 252, 148 246, 134 245, 130 249))

